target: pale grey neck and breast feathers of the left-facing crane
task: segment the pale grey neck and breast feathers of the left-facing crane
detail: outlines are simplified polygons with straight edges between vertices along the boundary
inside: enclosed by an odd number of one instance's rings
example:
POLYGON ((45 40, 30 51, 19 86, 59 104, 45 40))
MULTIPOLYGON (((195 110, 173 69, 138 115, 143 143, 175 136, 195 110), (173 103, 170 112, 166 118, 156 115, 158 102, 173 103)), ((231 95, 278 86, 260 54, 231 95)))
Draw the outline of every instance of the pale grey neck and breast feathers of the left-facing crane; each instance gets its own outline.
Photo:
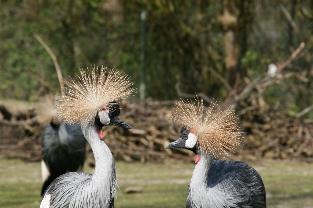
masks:
POLYGON ((233 198, 225 195, 223 189, 219 189, 218 186, 208 186, 208 172, 212 166, 213 157, 201 154, 199 157, 200 160, 193 171, 187 196, 187 200, 191 201, 192 208, 234 206, 233 198))

